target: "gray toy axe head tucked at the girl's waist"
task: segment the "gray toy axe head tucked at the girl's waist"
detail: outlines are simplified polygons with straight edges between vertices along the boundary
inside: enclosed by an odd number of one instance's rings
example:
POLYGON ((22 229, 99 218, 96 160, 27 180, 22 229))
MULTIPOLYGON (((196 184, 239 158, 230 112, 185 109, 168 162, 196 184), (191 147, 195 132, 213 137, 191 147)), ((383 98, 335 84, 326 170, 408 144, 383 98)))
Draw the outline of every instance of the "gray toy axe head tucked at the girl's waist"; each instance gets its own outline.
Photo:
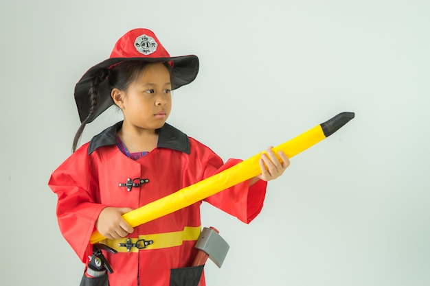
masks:
POLYGON ((214 261, 216 266, 221 267, 230 246, 216 230, 212 228, 203 228, 196 242, 196 248, 203 250, 209 255, 209 258, 214 261))

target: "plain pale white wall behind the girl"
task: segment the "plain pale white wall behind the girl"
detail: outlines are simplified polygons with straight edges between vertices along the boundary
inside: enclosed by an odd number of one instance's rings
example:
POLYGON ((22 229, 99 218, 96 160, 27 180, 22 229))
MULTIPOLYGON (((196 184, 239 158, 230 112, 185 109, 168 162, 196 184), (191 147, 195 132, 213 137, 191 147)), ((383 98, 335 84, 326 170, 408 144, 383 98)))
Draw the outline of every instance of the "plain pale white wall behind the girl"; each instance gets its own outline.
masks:
POLYGON ((427 0, 1 1, 0 285, 79 284, 47 181, 79 126, 74 85, 135 27, 199 56, 168 122, 225 160, 356 113, 269 182, 251 224, 203 204, 230 245, 208 285, 430 285, 429 15, 427 0))

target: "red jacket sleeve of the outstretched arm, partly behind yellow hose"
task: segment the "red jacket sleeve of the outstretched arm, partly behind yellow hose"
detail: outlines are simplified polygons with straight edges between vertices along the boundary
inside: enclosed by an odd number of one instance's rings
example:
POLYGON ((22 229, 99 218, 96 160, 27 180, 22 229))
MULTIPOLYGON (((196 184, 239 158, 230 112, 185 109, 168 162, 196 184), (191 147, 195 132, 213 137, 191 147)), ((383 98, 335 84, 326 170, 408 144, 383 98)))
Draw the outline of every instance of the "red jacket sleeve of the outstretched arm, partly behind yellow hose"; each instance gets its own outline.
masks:
MULTIPOLYGON (((240 162, 242 160, 229 159, 223 164, 223 161, 214 154, 214 157, 207 162, 205 178, 213 176, 240 162)), ((240 221, 245 222, 245 224, 249 224, 262 210, 266 188, 267 182, 265 181, 258 180, 258 182, 249 187, 249 180, 247 180, 229 189, 220 191, 205 199, 205 201, 237 217, 240 221)))

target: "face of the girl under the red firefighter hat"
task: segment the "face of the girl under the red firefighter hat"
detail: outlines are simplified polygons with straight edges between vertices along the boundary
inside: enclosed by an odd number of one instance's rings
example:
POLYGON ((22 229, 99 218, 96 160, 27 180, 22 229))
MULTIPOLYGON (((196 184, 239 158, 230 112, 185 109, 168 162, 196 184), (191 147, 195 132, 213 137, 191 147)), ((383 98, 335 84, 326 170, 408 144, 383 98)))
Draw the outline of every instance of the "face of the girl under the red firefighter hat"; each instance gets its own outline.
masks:
POLYGON ((148 130, 161 128, 172 109, 171 88, 170 73, 164 64, 146 66, 124 93, 124 123, 148 130))

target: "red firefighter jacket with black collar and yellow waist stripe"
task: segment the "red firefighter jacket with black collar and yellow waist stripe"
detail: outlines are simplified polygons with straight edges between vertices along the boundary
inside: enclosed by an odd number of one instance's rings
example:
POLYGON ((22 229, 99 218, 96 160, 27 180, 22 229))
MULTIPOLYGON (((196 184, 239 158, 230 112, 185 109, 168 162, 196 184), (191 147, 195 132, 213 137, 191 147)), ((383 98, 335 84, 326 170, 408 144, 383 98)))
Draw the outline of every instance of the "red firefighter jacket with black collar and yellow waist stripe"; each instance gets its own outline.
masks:
MULTIPOLYGON (((49 187, 58 195, 57 217, 60 231, 82 262, 92 254, 89 243, 95 221, 106 206, 139 208, 183 187, 199 182, 240 160, 223 160, 210 148, 167 123, 159 130, 157 148, 138 160, 122 154, 115 136, 122 122, 107 128, 82 145, 58 167, 49 187), (143 182, 126 187, 128 179, 143 182), (122 186, 120 186, 122 184, 122 186), (128 189, 129 188, 129 189, 128 189)), ((242 182, 205 201, 249 223, 260 213, 266 182, 249 187, 242 182)), ((145 248, 118 247, 118 241, 104 241, 120 250, 104 252, 113 268, 111 286, 168 286, 171 270, 190 266, 201 229, 201 202, 135 227, 128 235, 145 248), (198 231, 196 231, 198 230, 198 231)), ((125 243, 124 241, 120 241, 125 243)), ((185 268, 184 268, 185 269, 185 268)), ((205 285, 204 277, 201 285, 205 285)))

